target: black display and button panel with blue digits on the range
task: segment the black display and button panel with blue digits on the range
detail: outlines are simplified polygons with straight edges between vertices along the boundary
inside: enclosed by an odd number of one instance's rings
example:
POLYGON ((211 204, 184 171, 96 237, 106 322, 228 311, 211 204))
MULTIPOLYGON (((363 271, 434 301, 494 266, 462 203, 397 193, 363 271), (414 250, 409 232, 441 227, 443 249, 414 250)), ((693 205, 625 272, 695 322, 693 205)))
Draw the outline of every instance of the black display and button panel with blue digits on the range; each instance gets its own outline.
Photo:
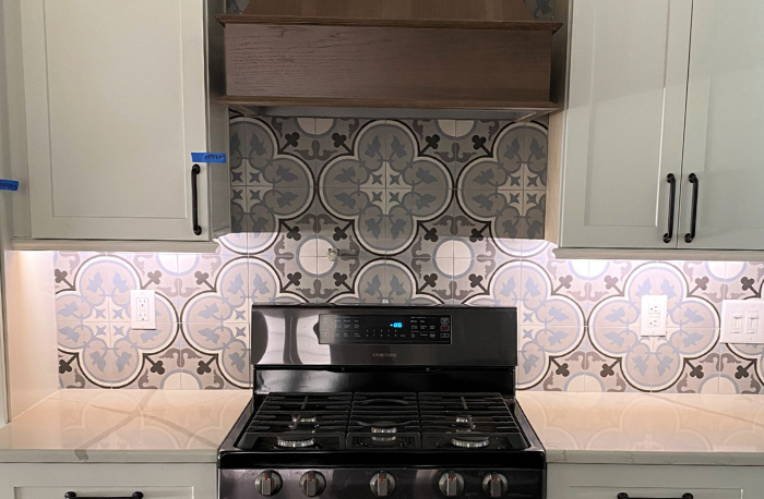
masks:
POLYGON ((451 344, 450 315, 335 315, 319 317, 321 344, 451 344))

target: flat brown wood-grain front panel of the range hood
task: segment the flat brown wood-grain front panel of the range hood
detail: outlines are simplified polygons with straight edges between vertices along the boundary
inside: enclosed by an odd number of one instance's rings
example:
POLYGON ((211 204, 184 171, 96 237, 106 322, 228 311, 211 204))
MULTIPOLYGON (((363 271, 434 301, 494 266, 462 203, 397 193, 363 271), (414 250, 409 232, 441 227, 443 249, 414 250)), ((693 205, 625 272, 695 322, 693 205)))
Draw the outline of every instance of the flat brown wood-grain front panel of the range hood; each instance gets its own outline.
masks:
POLYGON ((227 24, 227 95, 548 102, 551 41, 550 31, 227 24))

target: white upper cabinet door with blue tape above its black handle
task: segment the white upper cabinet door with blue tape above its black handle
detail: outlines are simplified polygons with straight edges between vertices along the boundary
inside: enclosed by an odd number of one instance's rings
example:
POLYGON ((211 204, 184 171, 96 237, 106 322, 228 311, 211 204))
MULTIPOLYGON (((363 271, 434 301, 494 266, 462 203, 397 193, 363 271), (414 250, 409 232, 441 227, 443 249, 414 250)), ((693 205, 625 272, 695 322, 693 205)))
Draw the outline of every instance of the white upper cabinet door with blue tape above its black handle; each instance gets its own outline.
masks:
POLYGON ((24 0, 22 33, 32 236, 208 240, 204 1, 24 0))

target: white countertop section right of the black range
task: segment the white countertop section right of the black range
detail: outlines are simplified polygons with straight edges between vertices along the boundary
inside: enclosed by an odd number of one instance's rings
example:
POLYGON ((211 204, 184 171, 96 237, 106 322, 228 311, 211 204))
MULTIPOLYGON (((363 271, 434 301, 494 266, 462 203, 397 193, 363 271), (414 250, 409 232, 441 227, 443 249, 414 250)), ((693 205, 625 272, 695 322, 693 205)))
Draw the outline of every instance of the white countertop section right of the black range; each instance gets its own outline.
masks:
POLYGON ((764 397, 522 391, 549 463, 764 465, 764 397))

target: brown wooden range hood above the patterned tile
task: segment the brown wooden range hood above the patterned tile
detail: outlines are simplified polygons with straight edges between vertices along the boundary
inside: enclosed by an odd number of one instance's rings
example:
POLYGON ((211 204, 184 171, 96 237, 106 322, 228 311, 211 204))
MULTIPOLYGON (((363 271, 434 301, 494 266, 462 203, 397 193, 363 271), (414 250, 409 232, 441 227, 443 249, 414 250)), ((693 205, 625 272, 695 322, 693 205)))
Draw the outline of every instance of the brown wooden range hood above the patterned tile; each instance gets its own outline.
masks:
POLYGON ((225 26, 246 114, 528 118, 550 99, 552 35, 523 0, 252 0, 225 26))

